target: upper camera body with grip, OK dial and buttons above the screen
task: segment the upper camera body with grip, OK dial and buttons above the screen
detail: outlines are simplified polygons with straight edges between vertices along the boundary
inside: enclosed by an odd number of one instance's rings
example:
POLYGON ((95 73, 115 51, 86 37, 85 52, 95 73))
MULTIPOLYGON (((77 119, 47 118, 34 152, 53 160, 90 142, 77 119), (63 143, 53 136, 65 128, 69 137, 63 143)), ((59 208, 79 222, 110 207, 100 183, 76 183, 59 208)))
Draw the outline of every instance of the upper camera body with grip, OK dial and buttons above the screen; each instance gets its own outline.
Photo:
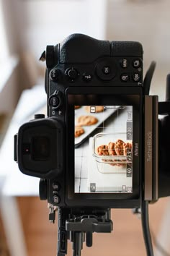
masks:
POLYGON ((143 83, 143 48, 138 42, 109 42, 73 34, 56 46, 47 46, 46 62, 50 87, 143 83))

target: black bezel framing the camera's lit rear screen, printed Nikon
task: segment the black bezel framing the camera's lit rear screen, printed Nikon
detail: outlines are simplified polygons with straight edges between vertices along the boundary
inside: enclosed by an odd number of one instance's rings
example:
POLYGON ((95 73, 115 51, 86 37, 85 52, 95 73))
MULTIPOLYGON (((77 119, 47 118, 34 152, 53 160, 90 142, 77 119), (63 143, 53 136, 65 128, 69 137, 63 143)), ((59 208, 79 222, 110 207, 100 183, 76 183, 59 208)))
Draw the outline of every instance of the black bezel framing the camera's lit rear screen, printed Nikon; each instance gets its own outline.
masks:
POLYGON ((66 204, 96 205, 111 200, 138 200, 140 198, 140 153, 141 153, 141 117, 142 88, 140 87, 72 87, 66 89, 66 204), (76 95, 81 95, 76 97, 76 95), (89 97, 89 95, 91 95, 89 97), (99 96, 96 98, 95 96, 99 96), (94 97, 93 97, 94 96, 94 97), (102 97, 101 97, 102 96, 102 97), (133 96, 133 98, 132 98, 133 96), (113 99, 114 102, 113 102, 113 99), (133 103, 132 103, 133 99, 133 103), (88 101, 87 101, 88 100, 88 101), (112 101, 112 102, 111 102, 112 101), (74 106, 75 105, 127 105, 133 106, 133 145, 138 143, 138 156, 133 147, 133 192, 132 193, 75 193, 74 192, 74 106), (94 204, 95 202, 95 204, 94 204))

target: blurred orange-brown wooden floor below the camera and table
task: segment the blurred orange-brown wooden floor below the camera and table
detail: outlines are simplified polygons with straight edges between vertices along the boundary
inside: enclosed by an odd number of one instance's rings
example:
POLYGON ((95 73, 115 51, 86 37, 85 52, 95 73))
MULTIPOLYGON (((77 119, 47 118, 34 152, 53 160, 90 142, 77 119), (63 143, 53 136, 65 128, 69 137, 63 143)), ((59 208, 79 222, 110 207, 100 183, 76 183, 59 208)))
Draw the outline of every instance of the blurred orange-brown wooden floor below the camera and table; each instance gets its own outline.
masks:
MULTIPOLYGON (((150 205, 151 230, 158 233, 161 218, 166 208, 166 198, 150 205)), ((48 222, 48 209, 45 201, 38 197, 19 197, 24 233, 29 256, 55 256, 57 244, 57 221, 48 222)), ((112 234, 94 234, 93 247, 84 244, 82 256, 145 256, 145 246, 140 220, 131 210, 112 210, 114 231, 112 234)), ((68 256, 72 255, 68 242, 68 256)), ((161 254, 160 254, 161 255, 161 254)), ((19 255, 22 256, 22 255, 19 255)))

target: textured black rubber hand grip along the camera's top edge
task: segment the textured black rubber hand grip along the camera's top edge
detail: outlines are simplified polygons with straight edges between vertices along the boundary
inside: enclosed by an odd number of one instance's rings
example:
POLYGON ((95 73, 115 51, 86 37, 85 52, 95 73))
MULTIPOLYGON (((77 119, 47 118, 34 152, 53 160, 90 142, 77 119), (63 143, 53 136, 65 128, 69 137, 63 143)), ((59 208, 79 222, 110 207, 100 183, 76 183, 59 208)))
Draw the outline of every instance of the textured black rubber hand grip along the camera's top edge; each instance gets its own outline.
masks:
POLYGON ((142 45, 138 42, 109 42, 82 34, 69 35, 58 46, 61 64, 92 63, 102 56, 143 56, 142 45))

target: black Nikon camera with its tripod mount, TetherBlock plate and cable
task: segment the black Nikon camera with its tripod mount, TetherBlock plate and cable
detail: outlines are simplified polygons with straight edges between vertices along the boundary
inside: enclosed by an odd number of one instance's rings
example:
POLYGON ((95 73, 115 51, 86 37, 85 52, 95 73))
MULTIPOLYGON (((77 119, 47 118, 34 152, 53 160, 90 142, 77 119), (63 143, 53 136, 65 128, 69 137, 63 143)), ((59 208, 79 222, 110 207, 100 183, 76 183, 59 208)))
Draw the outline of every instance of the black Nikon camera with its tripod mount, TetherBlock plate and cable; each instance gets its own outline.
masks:
POLYGON ((111 208, 141 209, 153 255, 148 202, 158 200, 158 96, 148 93, 155 64, 143 81, 140 43, 81 34, 47 46, 40 59, 48 117, 36 114, 19 128, 14 159, 23 174, 40 178, 51 222, 58 210, 58 256, 67 254, 68 239, 79 256, 93 232, 111 232, 111 208))

